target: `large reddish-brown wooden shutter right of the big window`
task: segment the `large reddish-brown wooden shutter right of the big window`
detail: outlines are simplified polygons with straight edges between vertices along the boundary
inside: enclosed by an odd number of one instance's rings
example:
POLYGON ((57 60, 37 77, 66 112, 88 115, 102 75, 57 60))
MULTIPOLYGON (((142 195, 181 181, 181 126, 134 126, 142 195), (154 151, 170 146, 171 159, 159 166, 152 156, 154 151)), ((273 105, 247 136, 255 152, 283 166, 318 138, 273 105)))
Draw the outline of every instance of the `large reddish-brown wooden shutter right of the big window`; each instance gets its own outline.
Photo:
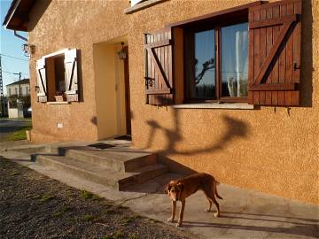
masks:
POLYGON ((300 104, 301 0, 249 9, 249 104, 300 104))

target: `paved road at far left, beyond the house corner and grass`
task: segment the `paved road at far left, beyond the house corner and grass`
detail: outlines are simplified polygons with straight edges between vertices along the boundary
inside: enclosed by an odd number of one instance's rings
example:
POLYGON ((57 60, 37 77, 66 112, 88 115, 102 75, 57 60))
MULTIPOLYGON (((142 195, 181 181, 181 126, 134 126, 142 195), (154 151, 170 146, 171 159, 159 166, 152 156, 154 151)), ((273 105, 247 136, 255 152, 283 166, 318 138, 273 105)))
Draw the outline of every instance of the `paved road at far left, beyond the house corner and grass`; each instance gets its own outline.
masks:
POLYGON ((0 118, 0 141, 6 135, 10 135, 17 131, 20 127, 26 127, 30 125, 30 119, 8 119, 0 118))

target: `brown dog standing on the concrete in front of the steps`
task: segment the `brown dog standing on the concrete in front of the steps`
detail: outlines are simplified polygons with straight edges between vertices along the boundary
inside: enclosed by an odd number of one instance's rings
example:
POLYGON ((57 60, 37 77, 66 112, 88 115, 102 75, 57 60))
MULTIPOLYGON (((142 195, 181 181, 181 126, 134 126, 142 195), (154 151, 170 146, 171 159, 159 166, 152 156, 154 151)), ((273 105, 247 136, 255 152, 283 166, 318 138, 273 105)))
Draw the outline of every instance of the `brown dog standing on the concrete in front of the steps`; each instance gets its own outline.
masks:
POLYGON ((206 173, 193 173, 190 176, 184 177, 182 179, 177 179, 170 181, 165 189, 165 193, 168 194, 172 200, 172 215, 167 220, 168 222, 173 222, 176 212, 176 202, 181 201, 182 208, 179 215, 179 220, 176 224, 176 227, 181 227, 183 224, 183 212, 185 209, 185 199, 186 197, 191 196, 196 193, 198 190, 203 190, 208 202, 209 207, 206 209, 206 212, 211 212, 212 203, 216 205, 217 212, 214 213, 214 216, 217 218, 220 216, 220 208, 214 196, 222 199, 221 196, 217 193, 216 186, 219 184, 218 181, 215 181, 212 175, 206 173))

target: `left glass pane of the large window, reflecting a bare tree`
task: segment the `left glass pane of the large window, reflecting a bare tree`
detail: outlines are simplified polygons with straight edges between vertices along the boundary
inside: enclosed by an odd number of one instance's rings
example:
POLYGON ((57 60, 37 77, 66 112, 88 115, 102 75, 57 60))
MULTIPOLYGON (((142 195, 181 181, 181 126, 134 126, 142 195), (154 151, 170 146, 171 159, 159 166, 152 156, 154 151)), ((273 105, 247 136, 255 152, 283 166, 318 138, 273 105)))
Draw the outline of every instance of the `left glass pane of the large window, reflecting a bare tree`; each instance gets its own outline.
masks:
POLYGON ((188 96, 192 99, 215 99, 214 29, 195 33, 193 37, 194 60, 189 58, 187 65, 188 96))

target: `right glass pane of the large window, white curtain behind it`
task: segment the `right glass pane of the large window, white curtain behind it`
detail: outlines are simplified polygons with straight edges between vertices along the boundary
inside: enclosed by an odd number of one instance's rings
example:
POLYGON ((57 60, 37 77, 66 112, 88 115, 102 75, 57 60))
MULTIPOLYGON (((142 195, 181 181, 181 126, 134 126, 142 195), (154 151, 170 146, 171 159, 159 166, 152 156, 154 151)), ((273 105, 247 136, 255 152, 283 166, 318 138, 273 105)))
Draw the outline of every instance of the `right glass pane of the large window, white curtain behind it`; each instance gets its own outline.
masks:
POLYGON ((222 27, 222 96, 247 96, 248 23, 222 27))

